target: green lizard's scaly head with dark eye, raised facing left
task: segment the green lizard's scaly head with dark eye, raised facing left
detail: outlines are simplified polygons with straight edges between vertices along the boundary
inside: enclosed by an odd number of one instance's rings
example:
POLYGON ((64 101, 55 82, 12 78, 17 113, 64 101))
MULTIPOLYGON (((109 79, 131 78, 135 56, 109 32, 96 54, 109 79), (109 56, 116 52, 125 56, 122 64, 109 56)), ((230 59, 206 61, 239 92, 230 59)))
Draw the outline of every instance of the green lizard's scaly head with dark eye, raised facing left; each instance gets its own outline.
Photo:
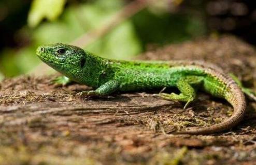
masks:
POLYGON ((86 52, 73 45, 43 45, 37 48, 36 54, 47 65, 71 79, 76 79, 86 63, 86 52))

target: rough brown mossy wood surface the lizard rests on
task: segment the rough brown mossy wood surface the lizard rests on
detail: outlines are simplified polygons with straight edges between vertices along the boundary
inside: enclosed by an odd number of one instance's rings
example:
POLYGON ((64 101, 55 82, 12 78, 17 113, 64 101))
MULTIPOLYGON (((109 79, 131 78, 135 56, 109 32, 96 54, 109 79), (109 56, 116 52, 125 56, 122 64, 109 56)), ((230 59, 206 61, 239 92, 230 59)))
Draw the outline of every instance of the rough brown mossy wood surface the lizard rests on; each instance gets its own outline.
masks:
MULTIPOLYGON (((232 36, 173 44, 140 59, 198 59, 236 74, 256 89, 256 51, 232 36)), ((149 92, 81 98, 89 89, 55 87, 54 76, 20 76, 0 83, 0 164, 253 164, 256 104, 232 130, 208 136, 177 129, 220 123, 232 114, 224 100, 199 93, 183 104, 149 92)))

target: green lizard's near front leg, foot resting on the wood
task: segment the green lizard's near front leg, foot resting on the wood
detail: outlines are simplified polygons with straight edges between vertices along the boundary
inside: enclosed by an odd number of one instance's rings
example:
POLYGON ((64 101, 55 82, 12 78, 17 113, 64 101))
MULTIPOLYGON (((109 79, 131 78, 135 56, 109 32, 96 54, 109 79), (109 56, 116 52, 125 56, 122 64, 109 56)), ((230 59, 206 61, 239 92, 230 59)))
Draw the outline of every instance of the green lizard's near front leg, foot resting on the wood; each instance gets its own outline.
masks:
POLYGON ((98 87, 95 90, 91 91, 82 91, 79 92, 78 95, 80 96, 106 96, 111 94, 119 89, 119 81, 117 80, 109 80, 102 86, 98 87))

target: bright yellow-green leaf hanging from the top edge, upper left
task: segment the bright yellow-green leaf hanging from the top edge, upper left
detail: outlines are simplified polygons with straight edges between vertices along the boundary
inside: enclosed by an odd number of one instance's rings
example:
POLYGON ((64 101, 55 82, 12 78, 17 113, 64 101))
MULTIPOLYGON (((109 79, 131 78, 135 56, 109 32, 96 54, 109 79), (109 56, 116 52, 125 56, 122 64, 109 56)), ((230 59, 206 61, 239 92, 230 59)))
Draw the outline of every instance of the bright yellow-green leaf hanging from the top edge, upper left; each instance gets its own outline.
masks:
POLYGON ((54 21, 64 9, 66 0, 34 0, 29 12, 28 24, 36 27, 44 18, 54 21))

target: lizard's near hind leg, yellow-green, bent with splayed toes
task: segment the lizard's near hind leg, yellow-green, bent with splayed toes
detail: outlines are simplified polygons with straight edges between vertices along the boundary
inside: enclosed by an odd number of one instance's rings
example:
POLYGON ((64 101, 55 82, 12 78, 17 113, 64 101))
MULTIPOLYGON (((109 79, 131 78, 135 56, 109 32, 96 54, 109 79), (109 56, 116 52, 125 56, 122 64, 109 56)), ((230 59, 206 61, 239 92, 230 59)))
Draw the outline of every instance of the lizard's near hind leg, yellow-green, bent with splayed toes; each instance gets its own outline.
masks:
POLYGON ((181 92, 180 94, 176 93, 159 93, 159 96, 166 99, 166 100, 176 100, 179 102, 185 102, 185 106, 183 109, 186 109, 190 103, 192 103, 195 100, 196 97, 196 91, 193 86, 200 85, 202 82, 202 78, 196 77, 196 76, 189 76, 185 78, 181 78, 177 82, 177 88, 181 92))

